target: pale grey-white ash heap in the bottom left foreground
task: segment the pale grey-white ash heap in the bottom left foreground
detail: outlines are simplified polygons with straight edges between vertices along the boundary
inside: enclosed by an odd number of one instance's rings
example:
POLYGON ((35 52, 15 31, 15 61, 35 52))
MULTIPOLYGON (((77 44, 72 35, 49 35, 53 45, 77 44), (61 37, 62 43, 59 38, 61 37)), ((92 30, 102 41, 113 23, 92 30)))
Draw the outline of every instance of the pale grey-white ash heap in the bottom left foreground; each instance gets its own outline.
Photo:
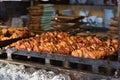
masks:
POLYGON ((0 63, 0 80, 71 80, 68 75, 24 65, 0 63))

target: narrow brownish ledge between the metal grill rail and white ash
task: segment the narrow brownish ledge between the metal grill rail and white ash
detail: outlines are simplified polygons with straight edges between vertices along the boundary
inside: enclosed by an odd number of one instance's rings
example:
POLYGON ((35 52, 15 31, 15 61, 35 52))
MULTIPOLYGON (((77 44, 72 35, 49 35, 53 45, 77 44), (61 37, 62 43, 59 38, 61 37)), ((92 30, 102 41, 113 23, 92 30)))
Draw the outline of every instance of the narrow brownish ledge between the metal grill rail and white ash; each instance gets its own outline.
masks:
POLYGON ((56 74, 66 74, 69 75, 71 80, 119 80, 120 78, 116 78, 114 76, 108 75, 100 75, 100 74, 93 74, 93 73, 86 73, 79 70, 70 70, 65 68, 59 68, 55 66, 49 65, 41 65, 34 62, 29 61, 22 61, 22 60, 6 60, 0 59, 0 63, 10 63, 15 65, 24 65, 25 67, 32 67, 36 69, 45 69, 47 71, 53 71, 56 74), (34 65, 33 65, 34 64, 34 65))

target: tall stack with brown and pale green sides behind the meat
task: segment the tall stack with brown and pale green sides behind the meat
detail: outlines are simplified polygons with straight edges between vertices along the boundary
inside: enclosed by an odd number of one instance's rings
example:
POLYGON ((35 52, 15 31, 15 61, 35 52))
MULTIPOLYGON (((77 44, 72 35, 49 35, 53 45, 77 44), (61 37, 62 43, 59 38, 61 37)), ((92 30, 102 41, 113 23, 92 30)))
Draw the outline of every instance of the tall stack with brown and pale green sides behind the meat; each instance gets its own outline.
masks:
POLYGON ((29 10, 29 29, 32 30, 51 30, 52 17, 56 14, 54 5, 41 4, 28 8, 29 10))

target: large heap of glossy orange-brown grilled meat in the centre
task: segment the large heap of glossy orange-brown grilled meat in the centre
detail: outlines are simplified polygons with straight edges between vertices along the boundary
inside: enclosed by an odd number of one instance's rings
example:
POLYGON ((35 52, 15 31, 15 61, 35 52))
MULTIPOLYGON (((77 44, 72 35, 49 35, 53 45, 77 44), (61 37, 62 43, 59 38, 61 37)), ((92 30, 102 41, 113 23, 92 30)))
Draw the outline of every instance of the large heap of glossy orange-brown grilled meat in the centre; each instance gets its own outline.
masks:
POLYGON ((71 36, 65 32, 44 32, 10 45, 16 49, 59 53, 75 57, 100 59, 118 50, 118 39, 101 40, 95 36, 71 36))

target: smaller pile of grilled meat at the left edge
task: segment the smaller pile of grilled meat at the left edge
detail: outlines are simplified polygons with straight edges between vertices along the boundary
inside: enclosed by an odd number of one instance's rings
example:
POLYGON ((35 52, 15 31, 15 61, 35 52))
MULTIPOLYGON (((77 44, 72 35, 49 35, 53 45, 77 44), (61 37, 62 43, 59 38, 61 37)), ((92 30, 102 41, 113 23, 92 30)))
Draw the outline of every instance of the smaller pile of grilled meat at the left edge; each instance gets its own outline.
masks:
POLYGON ((0 41, 21 38, 21 37, 28 37, 34 36, 34 33, 29 32, 27 28, 0 28, 0 41))

